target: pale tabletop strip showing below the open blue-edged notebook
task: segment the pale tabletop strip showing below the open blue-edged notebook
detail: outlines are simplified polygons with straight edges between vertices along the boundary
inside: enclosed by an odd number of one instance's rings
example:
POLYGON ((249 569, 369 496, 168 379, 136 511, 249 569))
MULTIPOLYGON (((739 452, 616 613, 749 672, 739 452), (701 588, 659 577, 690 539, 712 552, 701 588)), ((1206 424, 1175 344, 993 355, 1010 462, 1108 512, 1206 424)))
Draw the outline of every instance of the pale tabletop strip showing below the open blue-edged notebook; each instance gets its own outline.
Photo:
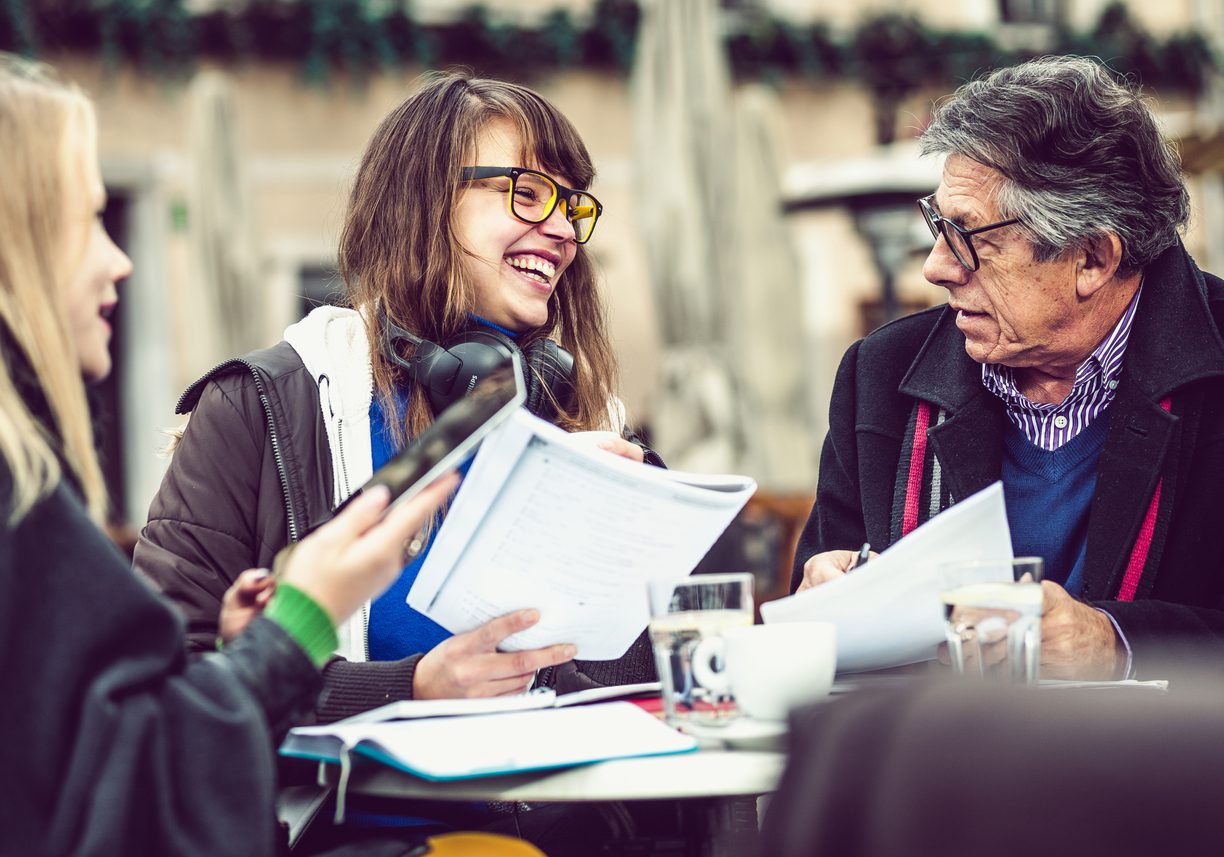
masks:
MULTIPOLYGON (((677 755, 613 759, 552 771, 433 782, 383 765, 353 770, 351 793, 455 801, 659 801, 766 795, 777 787, 786 755, 699 749, 677 755)), ((339 770, 323 766, 335 785, 339 770)))

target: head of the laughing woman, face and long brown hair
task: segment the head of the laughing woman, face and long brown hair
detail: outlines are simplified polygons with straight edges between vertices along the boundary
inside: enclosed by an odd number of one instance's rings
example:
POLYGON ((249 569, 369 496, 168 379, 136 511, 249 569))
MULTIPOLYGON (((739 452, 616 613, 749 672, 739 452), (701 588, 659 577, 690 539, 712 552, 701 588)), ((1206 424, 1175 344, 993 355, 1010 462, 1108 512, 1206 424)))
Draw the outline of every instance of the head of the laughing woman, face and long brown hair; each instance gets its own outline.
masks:
MULTIPOLYGON (((616 362, 606 312, 591 261, 567 222, 574 207, 565 200, 542 223, 529 223, 510 204, 512 184, 513 198, 521 200, 525 182, 466 180, 471 168, 537 170, 583 191, 595 178, 578 131, 534 91, 461 75, 426 77, 383 120, 362 157, 339 249, 350 302, 382 307, 436 343, 479 326, 474 316, 517 334, 524 346, 551 338, 574 357, 573 395, 554 421, 572 431, 619 432, 619 414, 608 413, 616 362), (521 273, 550 264, 547 283, 521 273)), ((384 357, 381 331, 373 333, 375 383, 389 398, 404 373, 384 357)), ((432 413, 424 397, 409 399, 405 428, 416 435, 432 413)))

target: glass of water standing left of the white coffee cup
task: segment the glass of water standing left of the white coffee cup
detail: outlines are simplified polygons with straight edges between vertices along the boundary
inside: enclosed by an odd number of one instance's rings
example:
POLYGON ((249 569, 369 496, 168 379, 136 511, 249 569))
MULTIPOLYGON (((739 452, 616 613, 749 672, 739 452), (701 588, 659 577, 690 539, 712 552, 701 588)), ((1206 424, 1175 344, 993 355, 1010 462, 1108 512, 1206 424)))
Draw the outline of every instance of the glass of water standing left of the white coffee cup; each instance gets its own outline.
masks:
POLYGON ((707 640, 753 623, 753 575, 696 574, 647 584, 650 642, 667 722, 716 725, 733 720, 736 700, 721 673, 722 648, 707 640), (704 644, 704 645, 703 645, 704 644))

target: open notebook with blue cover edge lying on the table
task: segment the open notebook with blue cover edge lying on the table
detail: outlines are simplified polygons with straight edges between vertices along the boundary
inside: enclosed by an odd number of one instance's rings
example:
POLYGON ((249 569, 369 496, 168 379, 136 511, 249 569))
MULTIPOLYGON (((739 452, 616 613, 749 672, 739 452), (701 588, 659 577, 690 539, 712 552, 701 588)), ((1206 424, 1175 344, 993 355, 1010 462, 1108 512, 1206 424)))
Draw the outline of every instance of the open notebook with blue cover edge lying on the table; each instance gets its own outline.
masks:
POLYGON ((532 770, 667 755, 696 749, 632 703, 419 717, 340 721, 291 730, 283 755, 341 764, 353 754, 426 780, 468 780, 532 770))

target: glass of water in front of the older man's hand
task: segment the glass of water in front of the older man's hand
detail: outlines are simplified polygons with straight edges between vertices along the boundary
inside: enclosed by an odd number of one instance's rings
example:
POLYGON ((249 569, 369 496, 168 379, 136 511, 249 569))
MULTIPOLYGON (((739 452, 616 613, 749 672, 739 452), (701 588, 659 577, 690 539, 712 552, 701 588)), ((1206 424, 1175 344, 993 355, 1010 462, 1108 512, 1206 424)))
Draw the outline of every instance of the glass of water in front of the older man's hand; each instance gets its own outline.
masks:
POLYGON ((1043 571, 1040 557, 940 567, 944 633, 957 675, 1037 683, 1043 571))

